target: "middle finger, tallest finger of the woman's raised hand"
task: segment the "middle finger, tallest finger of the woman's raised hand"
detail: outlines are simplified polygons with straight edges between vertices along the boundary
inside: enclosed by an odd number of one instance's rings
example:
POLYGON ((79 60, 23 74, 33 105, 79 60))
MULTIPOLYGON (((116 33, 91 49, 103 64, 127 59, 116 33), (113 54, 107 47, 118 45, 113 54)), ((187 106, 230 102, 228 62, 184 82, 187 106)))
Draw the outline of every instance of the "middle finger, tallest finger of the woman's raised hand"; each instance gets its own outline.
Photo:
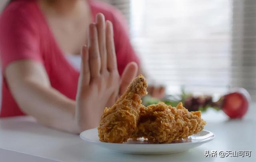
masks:
POLYGON ((105 17, 102 13, 96 15, 96 27, 98 32, 98 43, 99 43, 99 51, 100 51, 100 72, 106 69, 107 66, 107 53, 106 53, 106 25, 105 25, 105 17))

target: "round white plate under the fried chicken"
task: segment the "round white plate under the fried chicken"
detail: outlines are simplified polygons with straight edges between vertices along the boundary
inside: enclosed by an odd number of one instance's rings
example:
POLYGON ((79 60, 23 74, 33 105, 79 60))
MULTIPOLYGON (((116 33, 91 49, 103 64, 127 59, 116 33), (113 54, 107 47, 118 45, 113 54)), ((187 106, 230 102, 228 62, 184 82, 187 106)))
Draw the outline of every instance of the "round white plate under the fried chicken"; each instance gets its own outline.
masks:
POLYGON ((207 130, 202 130, 198 134, 190 136, 186 140, 174 141, 169 144, 148 144, 141 140, 128 140, 128 142, 122 144, 100 142, 97 128, 85 130, 80 134, 80 137, 86 142, 115 152, 122 152, 126 154, 173 154, 184 152, 190 148, 209 142, 214 138, 214 134, 207 130))

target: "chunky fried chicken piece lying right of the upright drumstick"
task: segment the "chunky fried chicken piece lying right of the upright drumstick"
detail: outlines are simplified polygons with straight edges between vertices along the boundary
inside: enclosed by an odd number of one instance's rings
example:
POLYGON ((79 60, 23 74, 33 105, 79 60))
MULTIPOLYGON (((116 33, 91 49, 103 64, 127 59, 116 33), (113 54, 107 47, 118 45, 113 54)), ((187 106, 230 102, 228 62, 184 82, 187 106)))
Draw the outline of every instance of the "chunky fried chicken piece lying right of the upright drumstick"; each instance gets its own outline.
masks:
POLYGON ((182 103, 176 108, 159 102, 140 107, 140 121, 133 137, 148 138, 150 143, 170 143, 200 132, 205 124, 201 111, 188 112, 182 103))

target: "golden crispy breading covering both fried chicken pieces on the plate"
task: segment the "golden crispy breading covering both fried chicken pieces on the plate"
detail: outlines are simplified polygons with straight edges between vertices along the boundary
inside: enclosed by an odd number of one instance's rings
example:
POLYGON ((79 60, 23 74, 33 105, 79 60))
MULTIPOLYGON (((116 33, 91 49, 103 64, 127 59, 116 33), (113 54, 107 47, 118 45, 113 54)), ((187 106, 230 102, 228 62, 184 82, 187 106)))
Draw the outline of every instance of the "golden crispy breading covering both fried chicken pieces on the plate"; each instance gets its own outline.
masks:
POLYGON ((201 111, 188 112, 162 102, 144 107, 141 97, 147 94, 142 75, 136 77, 111 108, 105 108, 98 127, 102 142, 122 143, 129 138, 148 138, 150 143, 170 143, 200 132, 206 122, 201 111))

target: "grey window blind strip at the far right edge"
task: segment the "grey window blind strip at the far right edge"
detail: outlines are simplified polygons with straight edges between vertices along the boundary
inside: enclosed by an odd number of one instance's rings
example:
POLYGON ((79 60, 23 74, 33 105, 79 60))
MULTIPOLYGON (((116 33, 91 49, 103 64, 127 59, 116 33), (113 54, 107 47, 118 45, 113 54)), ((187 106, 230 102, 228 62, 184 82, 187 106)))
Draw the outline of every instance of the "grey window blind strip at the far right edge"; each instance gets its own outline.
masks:
POLYGON ((233 87, 246 88, 256 101, 256 1, 233 1, 233 87))

